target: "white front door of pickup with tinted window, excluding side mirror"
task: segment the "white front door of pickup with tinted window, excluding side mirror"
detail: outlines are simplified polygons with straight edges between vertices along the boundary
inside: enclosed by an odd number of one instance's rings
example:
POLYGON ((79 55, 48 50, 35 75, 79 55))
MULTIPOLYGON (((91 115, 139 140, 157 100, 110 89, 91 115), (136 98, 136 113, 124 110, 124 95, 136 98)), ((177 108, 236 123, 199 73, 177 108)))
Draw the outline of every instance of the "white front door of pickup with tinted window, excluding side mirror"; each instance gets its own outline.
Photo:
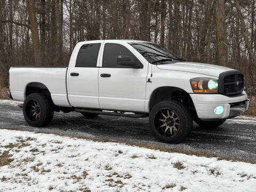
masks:
POLYGON ((99 102, 102 109, 145 111, 148 62, 131 45, 105 41, 99 68, 99 102), (118 55, 129 56, 143 68, 119 66, 118 55))

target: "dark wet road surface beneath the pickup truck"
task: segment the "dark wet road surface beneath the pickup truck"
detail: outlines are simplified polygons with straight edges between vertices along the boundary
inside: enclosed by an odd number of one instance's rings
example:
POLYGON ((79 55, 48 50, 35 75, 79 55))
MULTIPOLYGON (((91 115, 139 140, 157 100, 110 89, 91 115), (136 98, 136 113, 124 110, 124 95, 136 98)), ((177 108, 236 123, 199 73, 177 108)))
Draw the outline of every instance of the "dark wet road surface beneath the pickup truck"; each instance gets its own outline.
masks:
POLYGON ((41 129, 29 126, 22 109, 0 104, 0 127, 29 129, 47 133, 66 133, 93 138, 145 142, 165 147, 209 151, 221 155, 256 159, 256 121, 230 119, 215 129, 194 124, 189 138, 177 145, 157 141, 150 132, 148 118, 126 118, 100 115, 86 118, 79 113, 55 113, 52 123, 41 129))

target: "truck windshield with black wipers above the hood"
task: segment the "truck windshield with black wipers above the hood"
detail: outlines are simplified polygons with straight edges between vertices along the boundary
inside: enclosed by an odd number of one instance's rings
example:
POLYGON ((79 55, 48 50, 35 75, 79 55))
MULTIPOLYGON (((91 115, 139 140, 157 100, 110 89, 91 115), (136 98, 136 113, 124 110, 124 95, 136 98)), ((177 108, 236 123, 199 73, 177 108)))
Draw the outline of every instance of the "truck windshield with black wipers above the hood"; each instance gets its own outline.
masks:
POLYGON ((175 55, 173 52, 162 48, 154 43, 136 42, 129 43, 135 50, 137 50, 148 62, 161 65, 166 63, 185 61, 175 55))

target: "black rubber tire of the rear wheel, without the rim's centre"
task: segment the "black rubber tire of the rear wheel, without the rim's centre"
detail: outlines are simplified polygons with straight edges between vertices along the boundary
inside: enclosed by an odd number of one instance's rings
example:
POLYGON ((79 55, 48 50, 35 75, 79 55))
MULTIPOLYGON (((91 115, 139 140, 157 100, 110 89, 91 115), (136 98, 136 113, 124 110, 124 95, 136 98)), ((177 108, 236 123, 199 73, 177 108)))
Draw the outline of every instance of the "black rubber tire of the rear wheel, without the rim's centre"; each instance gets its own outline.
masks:
POLYGON ((53 106, 54 105, 52 100, 46 95, 41 93, 32 93, 26 97, 23 103, 23 116, 26 122, 31 126, 37 126, 37 127, 45 126, 52 121, 53 114, 54 114, 53 106), (33 100, 37 101, 41 110, 41 114, 36 120, 32 119, 31 115, 29 114, 29 107, 30 107, 29 103, 33 100))

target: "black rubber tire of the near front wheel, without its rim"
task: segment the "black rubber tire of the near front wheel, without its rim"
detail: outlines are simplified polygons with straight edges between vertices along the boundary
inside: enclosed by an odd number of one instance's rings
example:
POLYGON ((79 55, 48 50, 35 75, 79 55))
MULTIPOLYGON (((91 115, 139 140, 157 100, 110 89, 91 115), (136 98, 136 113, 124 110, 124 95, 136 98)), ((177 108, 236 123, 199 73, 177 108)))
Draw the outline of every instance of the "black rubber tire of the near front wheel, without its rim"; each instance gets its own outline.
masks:
POLYGON ((162 101, 157 103, 150 111, 149 125, 151 131, 158 140, 167 143, 179 143, 182 140, 184 140, 188 136, 189 132, 193 129, 193 119, 187 107, 184 106, 181 102, 162 101), (168 108, 169 110, 175 111, 175 113, 179 117, 178 132, 175 133, 174 135, 171 135, 171 137, 165 137, 164 135, 160 134, 155 126, 155 121, 157 121, 155 120, 156 114, 164 108, 168 108))

